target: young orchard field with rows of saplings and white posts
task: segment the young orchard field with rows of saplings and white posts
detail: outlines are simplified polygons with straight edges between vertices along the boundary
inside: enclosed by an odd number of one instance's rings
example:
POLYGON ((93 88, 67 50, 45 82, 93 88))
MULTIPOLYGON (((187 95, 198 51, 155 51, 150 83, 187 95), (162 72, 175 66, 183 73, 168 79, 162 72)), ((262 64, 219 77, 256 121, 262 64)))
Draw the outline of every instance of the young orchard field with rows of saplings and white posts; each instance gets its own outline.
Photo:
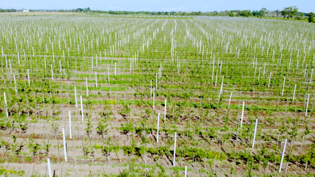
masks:
POLYGON ((1 175, 315 172, 312 24, 0 19, 1 175))

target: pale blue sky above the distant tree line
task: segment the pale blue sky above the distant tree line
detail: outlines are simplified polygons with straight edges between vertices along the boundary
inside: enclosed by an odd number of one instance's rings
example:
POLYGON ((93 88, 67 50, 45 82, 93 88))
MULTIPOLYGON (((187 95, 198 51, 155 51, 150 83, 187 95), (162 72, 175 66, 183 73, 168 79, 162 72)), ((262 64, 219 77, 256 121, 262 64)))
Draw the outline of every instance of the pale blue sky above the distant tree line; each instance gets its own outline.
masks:
POLYGON ((268 10, 297 6, 299 11, 315 11, 315 0, 0 0, 1 9, 77 9, 127 11, 220 11, 231 9, 268 10))

